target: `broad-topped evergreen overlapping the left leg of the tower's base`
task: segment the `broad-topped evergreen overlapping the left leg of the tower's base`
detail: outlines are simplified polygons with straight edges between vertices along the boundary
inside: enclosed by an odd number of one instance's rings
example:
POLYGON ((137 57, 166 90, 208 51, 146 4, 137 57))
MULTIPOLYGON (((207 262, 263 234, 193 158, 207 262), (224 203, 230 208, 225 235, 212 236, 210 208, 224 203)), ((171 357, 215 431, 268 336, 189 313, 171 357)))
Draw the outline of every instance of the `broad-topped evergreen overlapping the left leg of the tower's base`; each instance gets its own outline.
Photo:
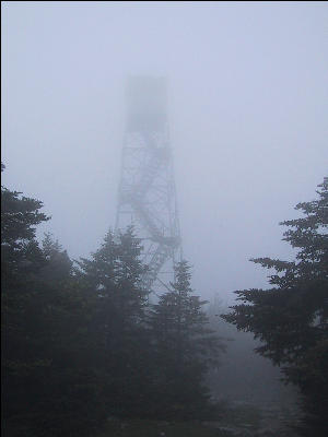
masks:
POLYGON ((108 413, 114 415, 141 414, 150 385, 141 250, 130 227, 117 237, 108 232, 91 259, 78 262, 78 276, 96 296, 92 332, 102 357, 98 365, 108 413))

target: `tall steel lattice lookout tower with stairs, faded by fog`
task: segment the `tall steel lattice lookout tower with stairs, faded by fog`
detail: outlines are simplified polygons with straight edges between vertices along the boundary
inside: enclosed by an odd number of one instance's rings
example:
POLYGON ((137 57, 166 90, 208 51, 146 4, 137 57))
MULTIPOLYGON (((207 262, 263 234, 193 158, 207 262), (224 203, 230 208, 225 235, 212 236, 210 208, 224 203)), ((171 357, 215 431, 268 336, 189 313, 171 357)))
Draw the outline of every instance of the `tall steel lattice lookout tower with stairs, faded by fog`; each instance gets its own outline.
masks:
POLYGON ((181 258, 166 88, 164 78, 128 80, 115 226, 116 232, 134 226, 149 267, 143 285, 155 293, 168 286, 181 258))

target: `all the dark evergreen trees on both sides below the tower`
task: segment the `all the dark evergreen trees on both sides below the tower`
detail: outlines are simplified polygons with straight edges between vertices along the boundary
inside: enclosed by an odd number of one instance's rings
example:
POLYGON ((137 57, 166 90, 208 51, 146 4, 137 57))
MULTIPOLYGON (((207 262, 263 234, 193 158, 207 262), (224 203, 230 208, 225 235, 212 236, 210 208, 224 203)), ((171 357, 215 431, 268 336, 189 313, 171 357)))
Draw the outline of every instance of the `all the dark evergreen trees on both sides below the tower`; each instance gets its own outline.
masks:
POLYGON ((154 303, 132 227, 108 231, 73 262, 50 234, 37 240, 49 220, 43 203, 1 187, 3 436, 96 436, 108 417, 218 421, 224 409, 208 377, 220 375, 223 319, 251 332, 256 352, 300 389, 297 433, 326 436, 327 178, 319 188, 318 200, 296 206, 304 218, 282 223, 295 261, 254 260, 276 269, 273 287, 236 292, 242 303, 214 315, 215 324, 187 261, 154 303))

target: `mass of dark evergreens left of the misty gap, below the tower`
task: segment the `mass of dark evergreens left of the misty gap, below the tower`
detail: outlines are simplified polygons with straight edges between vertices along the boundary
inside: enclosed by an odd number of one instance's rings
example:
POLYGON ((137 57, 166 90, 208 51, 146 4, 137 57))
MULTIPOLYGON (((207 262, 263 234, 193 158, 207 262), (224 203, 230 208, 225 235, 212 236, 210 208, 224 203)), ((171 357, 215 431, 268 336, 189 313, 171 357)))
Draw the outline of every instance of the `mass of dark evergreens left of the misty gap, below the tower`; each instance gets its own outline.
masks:
POLYGON ((35 226, 40 201, 1 190, 3 430, 89 435, 108 416, 211 417, 203 385, 223 343, 192 294, 190 267, 156 304, 133 229, 109 231, 77 265, 35 226))

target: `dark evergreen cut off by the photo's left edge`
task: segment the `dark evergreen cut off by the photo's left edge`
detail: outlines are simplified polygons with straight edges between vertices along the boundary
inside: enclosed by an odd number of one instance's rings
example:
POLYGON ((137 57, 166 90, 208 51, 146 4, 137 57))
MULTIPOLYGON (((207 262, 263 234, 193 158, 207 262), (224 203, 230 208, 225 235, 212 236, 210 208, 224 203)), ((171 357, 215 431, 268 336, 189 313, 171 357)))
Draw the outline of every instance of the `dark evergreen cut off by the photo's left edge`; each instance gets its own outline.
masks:
MULTIPOLYGON (((1 170, 4 166, 1 165, 1 170)), ((34 354, 31 335, 35 279, 45 264, 35 226, 48 220, 42 202, 1 186, 1 336, 3 418, 15 417, 30 399, 27 378, 48 366, 34 354)), ((28 409, 25 410, 28 415, 28 409)))

